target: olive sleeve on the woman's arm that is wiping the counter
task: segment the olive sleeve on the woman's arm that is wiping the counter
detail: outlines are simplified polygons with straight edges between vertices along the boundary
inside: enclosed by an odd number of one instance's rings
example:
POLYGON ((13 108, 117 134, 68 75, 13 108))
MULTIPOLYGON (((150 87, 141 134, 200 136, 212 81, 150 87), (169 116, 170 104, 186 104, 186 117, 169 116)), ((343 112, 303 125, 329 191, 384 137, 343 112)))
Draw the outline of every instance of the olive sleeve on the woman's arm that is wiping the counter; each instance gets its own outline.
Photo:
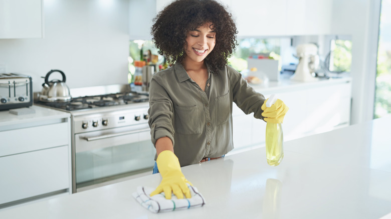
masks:
POLYGON ((156 80, 158 75, 153 75, 149 86, 148 124, 151 128, 151 140, 155 146, 160 137, 169 137, 174 144, 174 128, 172 125, 173 106, 172 100, 166 89, 156 80))

